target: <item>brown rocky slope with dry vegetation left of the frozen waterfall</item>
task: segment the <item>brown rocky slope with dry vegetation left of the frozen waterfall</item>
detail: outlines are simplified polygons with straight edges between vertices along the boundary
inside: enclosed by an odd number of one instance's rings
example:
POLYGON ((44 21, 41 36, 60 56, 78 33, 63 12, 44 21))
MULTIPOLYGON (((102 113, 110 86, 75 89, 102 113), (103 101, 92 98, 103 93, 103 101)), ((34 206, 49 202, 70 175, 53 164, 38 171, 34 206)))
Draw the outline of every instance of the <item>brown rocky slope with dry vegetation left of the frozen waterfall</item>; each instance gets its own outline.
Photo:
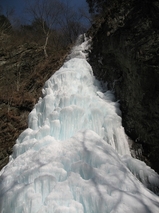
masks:
POLYGON ((42 45, 13 33, 0 35, 0 169, 27 127, 28 114, 41 96, 44 82, 62 65, 68 49, 45 59, 42 45), (23 41, 24 40, 24 41, 23 41))

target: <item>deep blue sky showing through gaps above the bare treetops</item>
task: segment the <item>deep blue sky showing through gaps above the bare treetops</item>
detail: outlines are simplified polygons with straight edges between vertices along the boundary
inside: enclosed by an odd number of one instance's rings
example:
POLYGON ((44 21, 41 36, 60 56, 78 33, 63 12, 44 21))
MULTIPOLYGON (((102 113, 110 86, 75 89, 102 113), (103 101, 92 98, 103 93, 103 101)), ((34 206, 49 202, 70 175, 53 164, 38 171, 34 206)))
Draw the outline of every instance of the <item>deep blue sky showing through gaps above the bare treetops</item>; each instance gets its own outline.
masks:
MULTIPOLYGON (((0 0, 0 7, 2 8, 2 13, 6 14, 6 11, 14 10, 14 16, 20 18, 21 21, 27 22, 27 15, 25 13, 25 8, 28 0, 0 0)), ((32 0, 31 2, 33 2, 32 0)), ((47 1, 47 0, 46 0, 47 1)), ((73 7, 84 7, 87 8, 86 0, 61 0, 62 2, 69 2, 73 7)), ((1 11, 0 11, 1 12, 1 11)))

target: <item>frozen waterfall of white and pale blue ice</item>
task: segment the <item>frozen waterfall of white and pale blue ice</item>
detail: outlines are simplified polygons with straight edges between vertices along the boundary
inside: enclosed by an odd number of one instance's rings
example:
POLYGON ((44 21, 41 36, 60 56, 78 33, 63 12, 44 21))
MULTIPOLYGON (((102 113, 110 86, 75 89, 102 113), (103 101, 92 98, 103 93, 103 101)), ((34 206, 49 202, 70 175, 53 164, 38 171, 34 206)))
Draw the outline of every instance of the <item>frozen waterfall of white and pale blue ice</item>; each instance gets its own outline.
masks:
POLYGON ((133 159, 110 91, 93 77, 88 41, 45 83, 9 164, 1 213, 157 213, 159 176, 133 159), (148 189, 149 188, 149 189, 148 189))

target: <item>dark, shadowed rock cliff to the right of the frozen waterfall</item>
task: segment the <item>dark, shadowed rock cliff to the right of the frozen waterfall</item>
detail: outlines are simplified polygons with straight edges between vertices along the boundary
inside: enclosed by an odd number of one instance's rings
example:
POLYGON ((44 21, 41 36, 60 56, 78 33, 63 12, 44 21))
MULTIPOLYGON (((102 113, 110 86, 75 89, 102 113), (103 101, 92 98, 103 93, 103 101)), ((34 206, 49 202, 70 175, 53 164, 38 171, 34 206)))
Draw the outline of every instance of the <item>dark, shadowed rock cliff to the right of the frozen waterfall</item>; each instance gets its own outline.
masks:
POLYGON ((127 135, 159 172, 159 1, 114 0, 105 8, 88 32, 90 63, 120 100, 127 135))

